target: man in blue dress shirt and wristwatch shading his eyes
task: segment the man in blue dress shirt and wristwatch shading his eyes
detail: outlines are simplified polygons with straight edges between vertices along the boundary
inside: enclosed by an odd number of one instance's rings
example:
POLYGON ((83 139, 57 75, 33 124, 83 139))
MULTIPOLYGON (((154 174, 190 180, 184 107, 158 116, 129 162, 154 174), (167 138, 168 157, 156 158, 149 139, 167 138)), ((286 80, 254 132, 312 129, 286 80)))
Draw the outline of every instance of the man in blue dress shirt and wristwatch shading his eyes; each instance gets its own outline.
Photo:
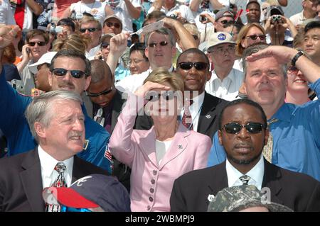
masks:
MULTIPOLYGON (((309 174, 320 181, 320 100, 302 106, 284 103, 287 69, 297 67, 319 98, 320 67, 289 47, 254 45, 245 50, 243 69, 248 98, 262 106, 273 137, 271 162, 284 169, 309 174)), ((215 133, 208 166, 225 160, 215 133)))

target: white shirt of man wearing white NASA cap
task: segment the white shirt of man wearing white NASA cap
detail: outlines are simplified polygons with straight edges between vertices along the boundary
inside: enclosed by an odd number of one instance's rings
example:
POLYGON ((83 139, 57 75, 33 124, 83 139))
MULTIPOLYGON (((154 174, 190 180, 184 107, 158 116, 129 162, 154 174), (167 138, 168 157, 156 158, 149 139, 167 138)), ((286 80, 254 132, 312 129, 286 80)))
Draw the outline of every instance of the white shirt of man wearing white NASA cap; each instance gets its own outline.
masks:
POLYGON ((213 96, 233 101, 238 96, 243 79, 243 73, 233 68, 228 76, 221 81, 213 70, 211 79, 206 84, 206 91, 213 96))

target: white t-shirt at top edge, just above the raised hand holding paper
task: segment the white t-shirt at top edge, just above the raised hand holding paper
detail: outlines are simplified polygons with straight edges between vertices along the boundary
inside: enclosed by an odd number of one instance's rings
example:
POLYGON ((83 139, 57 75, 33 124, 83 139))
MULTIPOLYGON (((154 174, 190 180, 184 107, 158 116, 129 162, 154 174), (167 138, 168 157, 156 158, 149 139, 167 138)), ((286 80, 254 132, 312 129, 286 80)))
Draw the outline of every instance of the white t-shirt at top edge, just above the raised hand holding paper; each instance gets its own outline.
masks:
MULTIPOLYGON (((142 7, 139 0, 130 0, 134 7, 142 7)), ((107 0, 105 4, 108 4, 114 11, 114 15, 119 17, 122 21, 122 32, 128 31, 133 32, 132 28, 132 18, 127 9, 127 5, 123 0, 107 0)))

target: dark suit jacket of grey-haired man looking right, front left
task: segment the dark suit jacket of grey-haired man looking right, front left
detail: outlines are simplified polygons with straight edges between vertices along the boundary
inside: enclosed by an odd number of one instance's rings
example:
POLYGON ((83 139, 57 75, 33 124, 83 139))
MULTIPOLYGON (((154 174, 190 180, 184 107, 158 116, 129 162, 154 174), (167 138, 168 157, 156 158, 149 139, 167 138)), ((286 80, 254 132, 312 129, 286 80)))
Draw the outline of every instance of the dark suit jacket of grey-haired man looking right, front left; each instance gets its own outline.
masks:
MULTIPOLYGON (((107 171, 74 157, 72 182, 89 174, 107 171)), ((43 212, 41 163, 37 148, 0 159, 0 211, 43 212)))

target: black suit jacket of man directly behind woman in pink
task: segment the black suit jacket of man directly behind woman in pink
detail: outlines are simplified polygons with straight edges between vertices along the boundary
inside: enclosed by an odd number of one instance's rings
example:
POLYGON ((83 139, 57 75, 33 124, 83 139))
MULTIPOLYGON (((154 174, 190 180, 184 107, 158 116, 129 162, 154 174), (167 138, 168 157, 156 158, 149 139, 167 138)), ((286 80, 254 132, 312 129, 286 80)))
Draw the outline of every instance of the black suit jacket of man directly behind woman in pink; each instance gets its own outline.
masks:
MULTIPOLYGON (((205 91, 203 105, 198 120, 197 132, 200 132, 213 140, 213 135, 218 130, 218 116, 221 110, 229 102, 212 96, 205 91)), ((153 125, 152 119, 149 116, 138 116, 135 128, 137 130, 149 130, 153 125)))

